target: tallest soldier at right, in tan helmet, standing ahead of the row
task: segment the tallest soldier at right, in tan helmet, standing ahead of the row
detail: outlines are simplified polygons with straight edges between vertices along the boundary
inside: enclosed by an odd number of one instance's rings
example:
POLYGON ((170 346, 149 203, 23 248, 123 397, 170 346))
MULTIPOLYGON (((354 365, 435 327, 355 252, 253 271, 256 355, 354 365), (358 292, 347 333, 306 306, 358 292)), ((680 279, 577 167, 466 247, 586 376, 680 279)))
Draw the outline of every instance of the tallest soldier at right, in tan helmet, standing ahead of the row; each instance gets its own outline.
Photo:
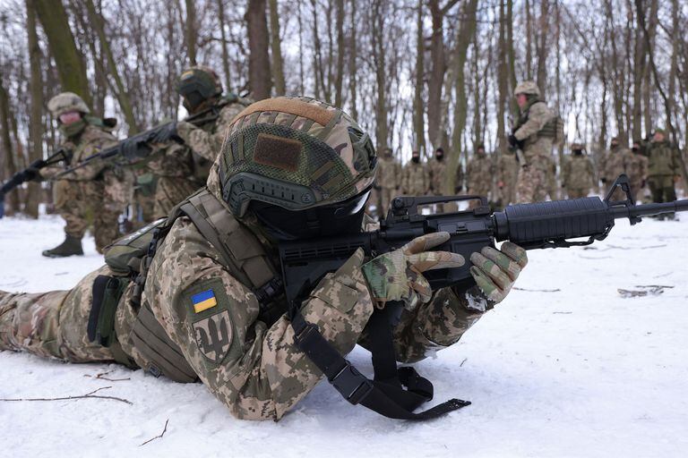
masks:
POLYGON ((547 173, 551 165, 552 144, 555 139, 555 116, 540 99, 540 89, 534 81, 523 81, 513 89, 519 105, 519 119, 509 136, 512 147, 518 146, 520 157, 519 182, 516 185, 519 202, 546 199, 547 173))

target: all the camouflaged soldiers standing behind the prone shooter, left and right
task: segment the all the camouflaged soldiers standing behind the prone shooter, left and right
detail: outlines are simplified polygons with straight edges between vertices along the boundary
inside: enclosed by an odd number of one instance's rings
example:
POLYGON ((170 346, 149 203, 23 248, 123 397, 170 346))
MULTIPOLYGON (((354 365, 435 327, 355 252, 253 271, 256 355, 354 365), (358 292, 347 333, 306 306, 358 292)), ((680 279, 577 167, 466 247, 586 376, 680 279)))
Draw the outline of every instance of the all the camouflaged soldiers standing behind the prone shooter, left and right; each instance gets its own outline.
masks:
MULTIPOLYGON (((47 166, 35 171, 37 177, 53 179, 56 212, 64 217, 65 239, 44 256, 80 255, 82 237, 92 219, 96 248, 102 252, 118 236, 118 218, 133 201, 140 225, 167 216, 176 203, 203 185, 219 151, 223 132, 250 101, 235 94, 223 95, 216 72, 203 66, 192 67, 179 77, 177 92, 193 123, 170 123, 168 135, 150 141, 146 154, 134 153, 115 161, 94 160, 64 173, 64 167, 47 166), (203 114, 208 113, 207 119, 203 114), (201 119, 197 119, 201 116, 201 119), (89 217, 90 216, 90 217, 89 217)), ((413 151, 408 164, 401 165, 391 148, 384 148, 369 208, 383 217, 396 195, 460 193, 464 178, 469 195, 489 196, 495 207, 516 202, 557 199, 556 165, 552 156, 557 143, 555 116, 540 98, 538 86, 524 81, 514 89, 519 117, 508 137, 510 148, 493 160, 482 143, 466 165, 464 177, 459 164, 449 165, 443 148, 437 148, 427 163, 413 151), (454 189, 446 188, 447 174, 453 173, 454 189)), ((112 134, 116 121, 100 119, 78 95, 65 92, 48 103, 71 151, 69 165, 79 165, 100 149, 117 144, 112 134)), ((125 145, 127 140, 121 144, 125 145)), ((136 148, 122 147, 125 151, 136 148)), ((619 174, 630 178, 633 197, 647 184, 653 201, 675 199, 675 182, 680 176, 679 152, 665 140, 665 132, 655 131, 649 142, 634 141, 632 150, 618 138, 611 141, 596 173, 581 143, 572 143, 571 155, 563 161, 561 182, 570 199, 585 197, 598 190, 598 178, 611 184, 619 174)), ((624 199, 620 190, 614 199, 624 199)), ((474 205, 474 204, 472 204, 474 205)), ((445 206, 446 208, 446 206, 445 206)), ((436 208, 443 210, 443 206, 436 208)))

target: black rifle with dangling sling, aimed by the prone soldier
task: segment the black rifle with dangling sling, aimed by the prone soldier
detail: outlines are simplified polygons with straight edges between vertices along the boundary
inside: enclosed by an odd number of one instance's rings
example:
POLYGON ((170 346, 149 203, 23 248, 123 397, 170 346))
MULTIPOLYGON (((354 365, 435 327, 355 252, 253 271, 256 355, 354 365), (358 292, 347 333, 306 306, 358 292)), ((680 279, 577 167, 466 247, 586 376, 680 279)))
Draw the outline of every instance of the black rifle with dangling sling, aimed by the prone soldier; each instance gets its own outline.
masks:
MULTIPOLYGON (((290 304, 294 342, 349 403, 360 403, 392 419, 436 418, 470 402, 451 399, 426 411, 414 412, 433 398, 433 385, 415 369, 397 367, 392 341, 393 328, 401 316, 401 304, 388 302, 383 310, 374 310, 366 325, 374 369, 374 379, 369 379, 341 356, 320 334, 319 327, 306 321, 300 312, 300 301, 323 276, 337 270, 358 249, 363 249, 366 257, 373 258, 426 233, 450 233, 450 240, 433 250, 452 251, 469 259, 471 253, 507 240, 526 250, 589 245, 604 240, 618 218, 627 217, 635 225, 641 222, 641 216, 675 211, 688 211, 688 199, 635 205, 626 175, 616 179, 605 199, 590 197, 518 204, 498 212, 492 212, 487 199, 479 196, 397 197, 391 201, 391 208, 378 231, 280 245, 282 281, 290 304), (624 190, 625 200, 611 200, 616 187, 624 190), (423 206, 475 199, 480 205, 465 211, 430 215, 419 211, 423 206), (587 240, 572 240, 580 237, 587 240)), ((467 262, 462 267, 429 270, 423 275, 433 290, 448 286, 463 289, 475 284, 469 268, 467 262)))

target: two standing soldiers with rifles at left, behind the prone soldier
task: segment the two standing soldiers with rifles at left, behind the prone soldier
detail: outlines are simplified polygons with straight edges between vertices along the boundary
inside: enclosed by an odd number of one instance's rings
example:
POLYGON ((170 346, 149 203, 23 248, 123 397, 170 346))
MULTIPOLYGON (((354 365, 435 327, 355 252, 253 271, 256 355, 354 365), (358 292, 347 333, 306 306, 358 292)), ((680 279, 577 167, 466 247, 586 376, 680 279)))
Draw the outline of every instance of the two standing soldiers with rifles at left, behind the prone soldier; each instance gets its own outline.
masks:
POLYGON ((63 135, 63 147, 70 151, 70 165, 37 168, 37 178, 54 181, 56 212, 64 218, 64 242, 43 255, 59 258, 83 254, 82 237, 92 220, 96 249, 119 236, 119 217, 136 202, 134 220, 139 225, 167 216, 175 205, 202 186, 224 140, 228 124, 250 102, 235 94, 223 95, 216 72, 203 66, 192 67, 179 77, 176 90, 190 117, 209 113, 194 123, 170 123, 168 135, 147 143, 145 154, 137 145, 120 148, 125 154, 116 160, 96 158, 99 150, 117 144, 112 130, 116 123, 90 114, 83 99, 71 92, 52 98, 48 109, 63 135), (131 152, 128 154, 127 152, 131 152), (85 165, 84 165, 85 164, 85 165))

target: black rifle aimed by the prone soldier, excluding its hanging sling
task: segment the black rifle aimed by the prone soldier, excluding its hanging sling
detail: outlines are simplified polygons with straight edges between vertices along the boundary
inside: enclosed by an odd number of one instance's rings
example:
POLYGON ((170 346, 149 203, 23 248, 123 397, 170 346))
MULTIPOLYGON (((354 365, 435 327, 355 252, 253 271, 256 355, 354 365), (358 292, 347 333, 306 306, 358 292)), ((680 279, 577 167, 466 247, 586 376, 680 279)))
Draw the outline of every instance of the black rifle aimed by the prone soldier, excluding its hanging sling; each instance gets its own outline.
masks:
MULTIPOLYGON (((641 222, 641 216, 677 211, 688 211, 688 199, 636 205, 625 174, 616 179, 605 199, 589 197, 516 204, 497 212, 492 212, 487 199, 480 196, 401 196, 392 199, 389 213, 378 231, 282 243, 282 281, 288 300, 297 301, 312 291, 323 276, 337 270, 358 248, 366 252, 366 257, 375 257, 396 250, 425 233, 441 231, 452 237, 433 250, 452 251, 465 259, 483 247, 494 247, 495 242, 507 240, 526 250, 570 248, 605 240, 616 219, 629 218, 635 225, 641 222), (617 187, 625 192, 625 200, 611 200, 617 187), (480 205, 470 210, 430 215, 422 215, 419 211, 419 208, 434 204, 476 199, 480 205), (587 240, 571 240, 581 237, 587 240)), ((433 290, 455 285, 469 287, 475 284, 469 268, 467 262, 463 267, 431 270, 423 275, 433 290)))

